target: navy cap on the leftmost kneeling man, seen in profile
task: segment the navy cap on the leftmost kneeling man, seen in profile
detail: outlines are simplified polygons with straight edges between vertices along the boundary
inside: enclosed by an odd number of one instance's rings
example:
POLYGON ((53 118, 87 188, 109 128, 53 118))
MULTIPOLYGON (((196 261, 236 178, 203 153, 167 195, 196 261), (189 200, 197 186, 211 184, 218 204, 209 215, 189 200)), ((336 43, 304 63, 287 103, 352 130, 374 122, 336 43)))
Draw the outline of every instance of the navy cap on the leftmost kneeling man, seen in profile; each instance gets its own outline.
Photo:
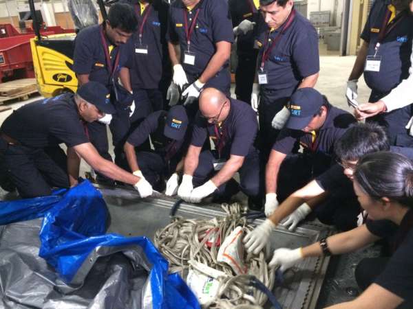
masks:
POLYGON ((110 102, 109 90, 100 82, 87 82, 78 87, 77 94, 90 104, 94 104, 105 114, 116 113, 115 106, 110 102))

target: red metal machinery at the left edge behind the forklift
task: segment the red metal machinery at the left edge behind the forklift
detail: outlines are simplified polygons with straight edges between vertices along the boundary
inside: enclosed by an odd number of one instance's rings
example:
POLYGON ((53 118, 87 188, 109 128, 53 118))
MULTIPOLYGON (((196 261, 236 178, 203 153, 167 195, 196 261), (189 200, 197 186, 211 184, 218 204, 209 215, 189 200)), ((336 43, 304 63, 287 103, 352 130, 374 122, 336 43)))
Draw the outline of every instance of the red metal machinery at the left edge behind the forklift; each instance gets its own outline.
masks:
MULTIPOLYGON (((0 24, 0 82, 17 78, 34 78, 30 38, 34 38, 31 27, 20 33, 10 23, 0 24)), ((60 26, 41 27, 42 36, 72 33, 60 26)))

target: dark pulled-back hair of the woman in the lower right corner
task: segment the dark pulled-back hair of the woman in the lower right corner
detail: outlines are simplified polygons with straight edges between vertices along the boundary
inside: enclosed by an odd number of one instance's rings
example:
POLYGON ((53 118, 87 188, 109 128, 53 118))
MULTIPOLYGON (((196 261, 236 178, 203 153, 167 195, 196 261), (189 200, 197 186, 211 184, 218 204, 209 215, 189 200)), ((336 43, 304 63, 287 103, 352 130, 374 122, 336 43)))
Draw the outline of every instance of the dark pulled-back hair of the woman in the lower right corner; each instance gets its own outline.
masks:
POLYGON ((413 163, 403 155, 388 151, 366 155, 357 163, 354 179, 372 198, 385 196, 413 207, 413 163))

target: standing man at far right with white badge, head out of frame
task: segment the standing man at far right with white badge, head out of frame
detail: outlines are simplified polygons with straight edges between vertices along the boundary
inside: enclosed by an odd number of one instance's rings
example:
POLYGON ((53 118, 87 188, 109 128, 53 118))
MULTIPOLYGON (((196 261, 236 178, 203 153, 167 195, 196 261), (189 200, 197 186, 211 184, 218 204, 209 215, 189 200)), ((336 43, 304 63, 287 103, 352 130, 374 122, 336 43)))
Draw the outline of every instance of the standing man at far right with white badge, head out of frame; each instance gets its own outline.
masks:
MULTIPOLYGON (((357 80, 361 74, 372 89, 369 102, 378 102, 409 76, 413 39, 409 3, 410 0, 374 1, 361 33, 363 44, 348 78, 348 100, 357 98, 357 80)), ((408 105, 370 117, 368 121, 388 129, 390 144, 412 147, 413 137, 405 128, 412 115, 412 106, 408 105)))

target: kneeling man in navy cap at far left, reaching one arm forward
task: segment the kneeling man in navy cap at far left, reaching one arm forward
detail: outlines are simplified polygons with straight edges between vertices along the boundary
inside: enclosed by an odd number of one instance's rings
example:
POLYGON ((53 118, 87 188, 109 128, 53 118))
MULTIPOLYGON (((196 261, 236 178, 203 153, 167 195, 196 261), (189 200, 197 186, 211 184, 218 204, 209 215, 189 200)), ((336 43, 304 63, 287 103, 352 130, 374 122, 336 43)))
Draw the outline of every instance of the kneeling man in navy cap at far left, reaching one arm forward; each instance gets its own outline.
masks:
POLYGON ((76 95, 26 104, 6 118, 0 128, 0 172, 8 174, 21 197, 46 196, 52 187, 76 185, 81 159, 111 179, 134 185, 142 197, 152 194, 145 179, 103 159, 89 142, 85 124, 116 112, 108 97, 103 84, 87 82, 76 95), (44 150, 62 143, 67 146, 63 162, 44 150))

